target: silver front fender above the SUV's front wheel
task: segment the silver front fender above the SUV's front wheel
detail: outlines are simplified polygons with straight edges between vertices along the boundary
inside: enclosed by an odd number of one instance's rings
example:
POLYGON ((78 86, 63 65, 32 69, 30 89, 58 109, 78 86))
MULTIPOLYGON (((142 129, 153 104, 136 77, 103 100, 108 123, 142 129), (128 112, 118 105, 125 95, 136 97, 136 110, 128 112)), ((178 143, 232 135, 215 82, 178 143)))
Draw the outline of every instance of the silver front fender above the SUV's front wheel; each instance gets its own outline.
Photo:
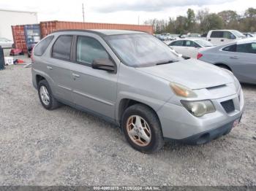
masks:
POLYGON ((118 73, 117 94, 116 119, 118 119, 118 105, 123 99, 141 102, 157 112, 174 95, 167 80, 143 73, 122 63, 118 73))

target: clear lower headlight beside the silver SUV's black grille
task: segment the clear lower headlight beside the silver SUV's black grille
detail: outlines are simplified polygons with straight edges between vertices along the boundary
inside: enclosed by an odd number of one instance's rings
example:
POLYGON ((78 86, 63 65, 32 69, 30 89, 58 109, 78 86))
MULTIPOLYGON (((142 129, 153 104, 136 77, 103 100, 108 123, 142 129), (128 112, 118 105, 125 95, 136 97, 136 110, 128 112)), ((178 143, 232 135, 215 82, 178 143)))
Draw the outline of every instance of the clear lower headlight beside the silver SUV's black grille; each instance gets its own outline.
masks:
POLYGON ((205 101, 184 101, 181 104, 195 117, 201 117, 204 114, 215 112, 214 104, 210 100, 205 101))

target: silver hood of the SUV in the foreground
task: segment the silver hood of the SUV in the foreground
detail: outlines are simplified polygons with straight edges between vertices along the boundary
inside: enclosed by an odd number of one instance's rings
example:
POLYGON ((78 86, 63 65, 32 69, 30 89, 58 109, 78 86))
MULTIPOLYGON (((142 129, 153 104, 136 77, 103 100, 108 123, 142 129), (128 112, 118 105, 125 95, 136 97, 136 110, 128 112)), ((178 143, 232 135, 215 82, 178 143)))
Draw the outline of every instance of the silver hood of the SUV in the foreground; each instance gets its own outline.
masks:
POLYGON ((233 82, 233 77, 228 71, 195 59, 136 69, 193 90, 233 82))

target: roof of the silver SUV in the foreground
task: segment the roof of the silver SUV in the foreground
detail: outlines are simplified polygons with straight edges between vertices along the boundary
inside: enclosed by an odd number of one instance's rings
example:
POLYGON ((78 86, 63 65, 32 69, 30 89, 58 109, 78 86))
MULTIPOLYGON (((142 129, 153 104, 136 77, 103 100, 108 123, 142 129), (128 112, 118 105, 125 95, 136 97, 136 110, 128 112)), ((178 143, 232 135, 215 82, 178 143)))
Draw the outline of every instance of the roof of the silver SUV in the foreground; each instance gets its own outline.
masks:
POLYGON ((146 34, 145 32, 142 32, 142 31, 110 30, 110 29, 94 29, 94 30, 72 29, 72 30, 55 31, 54 33, 65 32, 65 31, 94 33, 94 34, 98 34, 99 36, 110 36, 110 35, 118 35, 118 34, 146 34))

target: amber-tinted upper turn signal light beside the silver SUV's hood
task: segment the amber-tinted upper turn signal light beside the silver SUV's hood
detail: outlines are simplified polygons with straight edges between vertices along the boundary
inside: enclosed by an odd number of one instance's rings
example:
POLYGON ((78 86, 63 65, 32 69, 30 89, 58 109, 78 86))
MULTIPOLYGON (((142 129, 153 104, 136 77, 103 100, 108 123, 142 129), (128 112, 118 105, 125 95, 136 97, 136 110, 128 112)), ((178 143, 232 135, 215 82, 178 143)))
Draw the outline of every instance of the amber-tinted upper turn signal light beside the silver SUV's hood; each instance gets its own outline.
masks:
POLYGON ((190 90, 188 87, 185 87, 183 85, 176 84, 174 82, 170 82, 170 87, 172 88, 173 92, 181 97, 184 98, 196 98, 197 95, 190 90))

